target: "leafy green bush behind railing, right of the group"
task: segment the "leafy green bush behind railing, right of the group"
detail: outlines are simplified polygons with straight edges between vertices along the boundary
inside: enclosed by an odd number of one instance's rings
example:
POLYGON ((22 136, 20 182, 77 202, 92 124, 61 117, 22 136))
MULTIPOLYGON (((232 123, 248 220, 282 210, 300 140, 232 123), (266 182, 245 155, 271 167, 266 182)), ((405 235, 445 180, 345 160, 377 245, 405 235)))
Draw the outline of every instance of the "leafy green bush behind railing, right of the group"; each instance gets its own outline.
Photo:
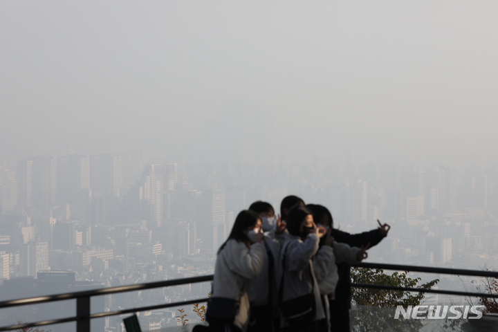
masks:
MULTIPOLYGON (((356 284, 376 284, 409 288, 431 289, 439 282, 420 284, 421 278, 407 277, 405 273, 395 272, 387 275, 384 270, 371 268, 353 268, 351 282, 356 284)), ((368 331, 418 331, 422 327, 419 320, 394 319, 396 306, 418 306, 424 299, 424 293, 392 291, 376 288, 353 288, 352 299, 354 310, 351 311, 351 329, 355 332, 368 331)))

